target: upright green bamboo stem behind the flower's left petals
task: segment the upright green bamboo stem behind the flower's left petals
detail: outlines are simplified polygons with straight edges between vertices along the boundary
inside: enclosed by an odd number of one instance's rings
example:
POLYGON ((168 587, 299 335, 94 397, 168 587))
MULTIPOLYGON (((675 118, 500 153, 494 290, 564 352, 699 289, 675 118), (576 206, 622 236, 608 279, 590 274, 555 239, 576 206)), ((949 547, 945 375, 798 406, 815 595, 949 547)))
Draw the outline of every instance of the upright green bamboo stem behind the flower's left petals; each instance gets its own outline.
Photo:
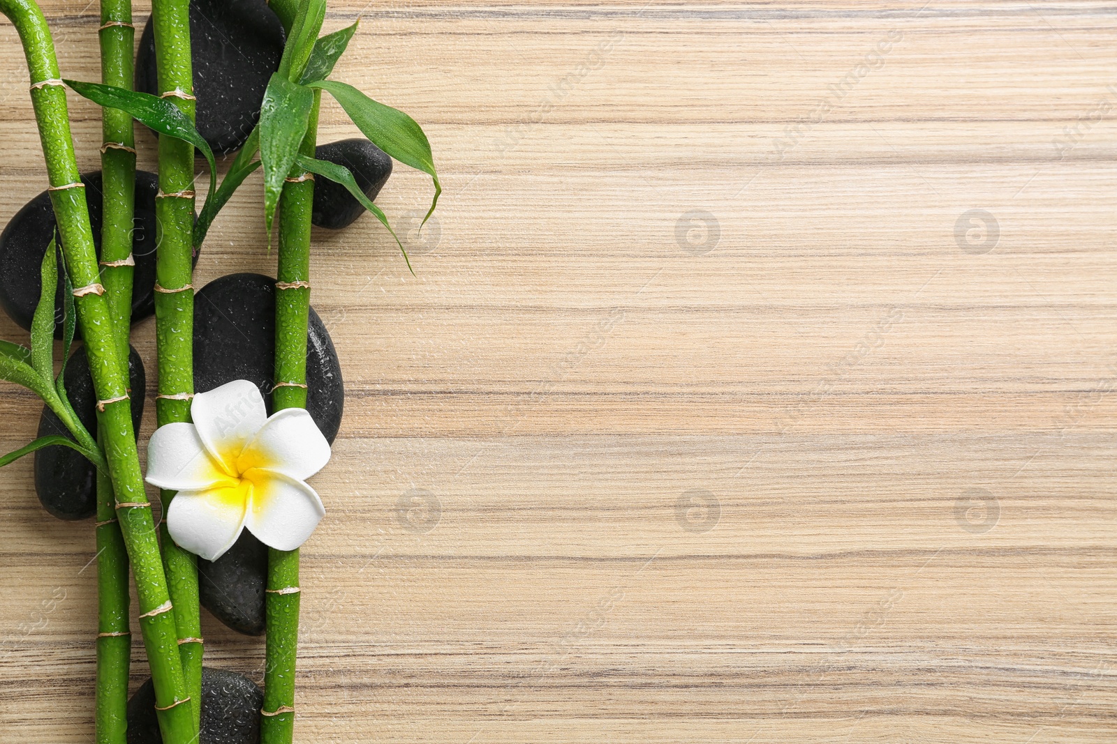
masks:
MULTIPOLYGON (((188 0, 153 0, 155 62, 160 95, 194 118, 193 66, 190 58, 188 0)), ((193 226, 194 146, 174 137, 159 138, 159 189, 155 202, 155 337, 159 356, 159 426, 190 421, 193 369, 193 226), (168 397, 172 396, 172 397, 168 397)), ((166 513, 173 491, 162 491, 166 513)), ((194 724, 201 715, 202 631, 198 600, 198 559, 171 539, 164 520, 160 526, 163 563, 171 599, 178 609, 179 649, 194 724)))

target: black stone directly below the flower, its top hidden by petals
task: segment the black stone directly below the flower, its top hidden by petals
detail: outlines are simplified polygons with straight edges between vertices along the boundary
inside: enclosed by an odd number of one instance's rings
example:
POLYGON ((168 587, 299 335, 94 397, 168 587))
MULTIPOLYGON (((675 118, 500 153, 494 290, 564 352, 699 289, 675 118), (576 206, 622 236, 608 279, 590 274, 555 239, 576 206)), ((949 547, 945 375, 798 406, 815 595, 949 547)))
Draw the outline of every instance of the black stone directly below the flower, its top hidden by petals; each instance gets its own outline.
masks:
POLYGON ((198 559, 198 595, 213 617, 246 636, 262 636, 268 547, 245 530, 216 561, 198 559))

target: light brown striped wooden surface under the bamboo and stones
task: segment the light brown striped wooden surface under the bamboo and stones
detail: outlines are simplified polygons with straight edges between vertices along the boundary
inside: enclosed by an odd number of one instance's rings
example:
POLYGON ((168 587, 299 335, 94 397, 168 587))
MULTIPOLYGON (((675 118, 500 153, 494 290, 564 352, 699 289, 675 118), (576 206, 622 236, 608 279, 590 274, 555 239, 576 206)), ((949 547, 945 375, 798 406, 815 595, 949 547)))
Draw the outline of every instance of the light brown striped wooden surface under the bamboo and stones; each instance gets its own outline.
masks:
MULTIPOLYGON (((95 79, 96 4, 46 10, 95 79)), ((335 0, 326 30, 359 13, 337 76, 424 126, 446 193, 423 235, 426 177, 379 199, 416 277, 369 216, 315 233, 347 399, 298 741, 1117 741, 1117 7, 335 0)), ((46 181, 0 37, 7 221, 46 181)), ((249 183, 198 286, 274 271, 249 183)), ((0 410, 31 438, 29 394, 0 410)), ((29 461, 0 491, 2 738, 92 741, 92 524, 29 461)))

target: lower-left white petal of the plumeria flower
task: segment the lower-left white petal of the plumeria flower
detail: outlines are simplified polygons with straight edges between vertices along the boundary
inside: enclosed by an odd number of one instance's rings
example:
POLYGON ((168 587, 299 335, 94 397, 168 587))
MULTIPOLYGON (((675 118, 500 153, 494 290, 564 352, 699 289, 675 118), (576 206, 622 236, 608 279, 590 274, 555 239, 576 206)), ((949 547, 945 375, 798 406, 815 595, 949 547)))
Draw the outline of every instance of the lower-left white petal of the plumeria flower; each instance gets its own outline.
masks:
POLYGON ((245 529, 247 486, 180 491, 166 510, 166 530, 174 542, 208 561, 223 555, 245 529))

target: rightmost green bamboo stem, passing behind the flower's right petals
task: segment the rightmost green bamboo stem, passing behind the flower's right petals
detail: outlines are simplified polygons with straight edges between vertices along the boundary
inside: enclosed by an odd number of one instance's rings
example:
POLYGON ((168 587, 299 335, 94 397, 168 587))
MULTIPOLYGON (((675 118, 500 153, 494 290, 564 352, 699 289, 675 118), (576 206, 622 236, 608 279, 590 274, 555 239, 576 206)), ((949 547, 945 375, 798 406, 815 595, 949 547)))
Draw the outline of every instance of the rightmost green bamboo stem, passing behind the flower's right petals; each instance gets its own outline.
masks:
MULTIPOLYGON (((321 91, 314 91, 299 146, 314 156, 321 91)), ((273 408, 306 407, 306 332, 311 312, 311 211, 313 175, 295 171, 279 196, 279 270, 276 280, 276 388, 273 408)), ((298 550, 268 549, 267 650, 260 744, 290 744, 295 731, 295 663, 298 649, 298 550)))

